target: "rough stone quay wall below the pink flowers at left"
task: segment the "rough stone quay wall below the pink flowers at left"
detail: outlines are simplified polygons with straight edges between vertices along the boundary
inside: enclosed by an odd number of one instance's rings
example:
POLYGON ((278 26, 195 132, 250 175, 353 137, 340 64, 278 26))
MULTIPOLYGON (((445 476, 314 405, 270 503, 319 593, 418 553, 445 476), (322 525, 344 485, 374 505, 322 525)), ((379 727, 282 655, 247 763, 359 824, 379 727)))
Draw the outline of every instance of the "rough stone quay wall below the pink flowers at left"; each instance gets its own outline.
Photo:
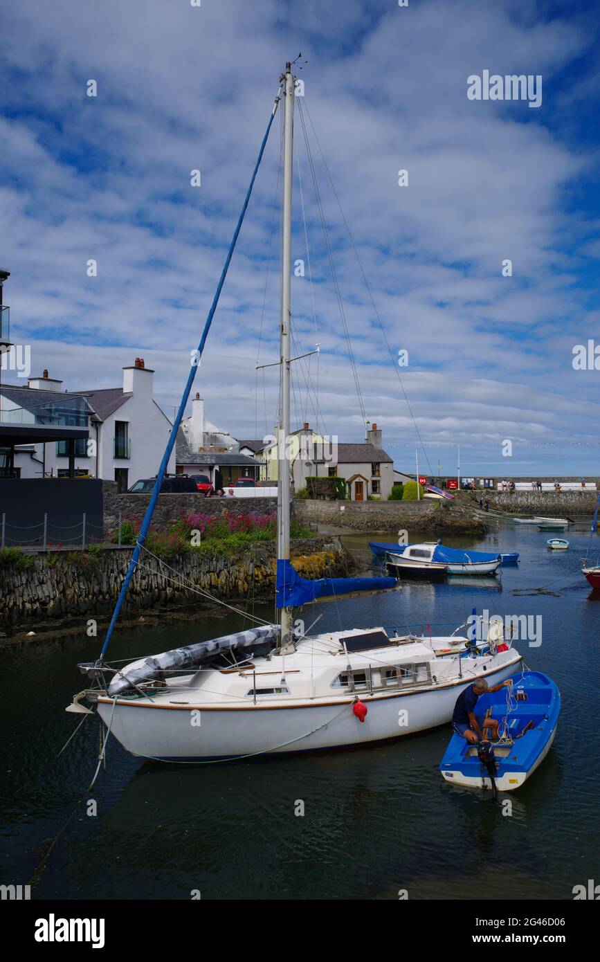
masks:
MULTIPOLYGON (((296 570, 311 578, 344 576, 353 567, 348 552, 336 539, 298 539, 292 543, 291 555, 296 570)), ((0 629, 25 619, 110 613, 131 553, 105 550, 29 557, 29 568, 0 568, 0 629)), ((274 544, 256 544, 236 558, 190 551, 168 559, 164 565, 142 556, 123 605, 123 615, 156 605, 204 603, 205 599, 193 587, 218 598, 241 599, 248 593, 255 597, 272 596, 275 565, 274 544)))

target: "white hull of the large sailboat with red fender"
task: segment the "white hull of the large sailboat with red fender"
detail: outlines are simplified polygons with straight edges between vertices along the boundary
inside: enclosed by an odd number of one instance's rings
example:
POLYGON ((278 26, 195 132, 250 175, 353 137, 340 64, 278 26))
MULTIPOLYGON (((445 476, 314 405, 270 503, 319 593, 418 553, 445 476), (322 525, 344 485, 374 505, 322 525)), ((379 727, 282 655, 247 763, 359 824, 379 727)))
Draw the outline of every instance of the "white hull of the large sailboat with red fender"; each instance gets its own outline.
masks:
MULTIPOLYGON (((489 684, 521 666, 516 651, 496 655, 494 670, 464 660, 464 675, 419 691, 361 693, 364 722, 353 713, 354 696, 315 698, 294 705, 217 707, 190 702, 150 705, 146 701, 98 699, 98 712, 112 735, 134 755, 164 761, 201 761, 292 751, 368 745, 450 722, 457 697, 474 677, 489 684), (469 672, 469 666, 470 673, 469 672)), ((174 696, 175 698, 176 696, 174 696)))

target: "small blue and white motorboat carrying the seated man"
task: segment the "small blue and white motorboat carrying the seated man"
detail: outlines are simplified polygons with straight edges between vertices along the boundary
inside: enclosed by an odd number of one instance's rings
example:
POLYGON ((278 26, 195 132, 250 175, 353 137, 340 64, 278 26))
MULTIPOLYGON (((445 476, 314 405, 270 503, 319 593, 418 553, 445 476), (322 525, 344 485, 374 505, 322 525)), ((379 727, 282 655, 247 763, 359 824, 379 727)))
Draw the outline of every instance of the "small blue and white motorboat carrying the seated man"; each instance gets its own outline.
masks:
MULTIPOLYGON (((479 697, 476 718, 489 711, 499 722, 498 742, 491 743, 486 761, 480 747, 456 732, 450 739, 439 771, 444 780, 467 788, 512 792, 520 788, 544 760, 556 735, 561 713, 561 693, 541 671, 514 675, 512 687, 479 697), (508 693, 508 694, 507 694, 508 693), (493 773, 493 780, 490 777, 493 773)), ((481 743, 489 747, 490 743, 481 743)))

